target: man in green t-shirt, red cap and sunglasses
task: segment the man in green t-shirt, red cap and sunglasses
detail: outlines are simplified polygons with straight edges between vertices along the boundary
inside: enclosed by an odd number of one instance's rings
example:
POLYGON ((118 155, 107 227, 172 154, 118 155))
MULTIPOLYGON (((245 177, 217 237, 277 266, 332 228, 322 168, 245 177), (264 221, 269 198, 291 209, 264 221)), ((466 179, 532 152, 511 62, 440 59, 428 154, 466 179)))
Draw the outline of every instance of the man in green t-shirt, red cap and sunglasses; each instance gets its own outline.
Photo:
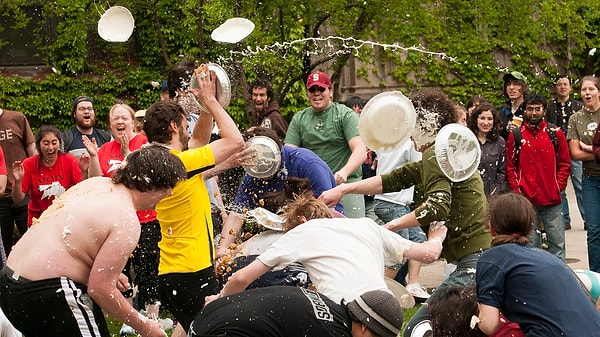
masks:
MULTIPOLYGON (((296 113, 288 127, 285 145, 315 152, 334 173, 336 183, 359 181, 367 149, 360 139, 358 115, 344 104, 332 102, 333 85, 323 72, 313 72, 306 81, 310 107, 296 113)), ((350 218, 365 216, 360 194, 342 199, 350 218)))

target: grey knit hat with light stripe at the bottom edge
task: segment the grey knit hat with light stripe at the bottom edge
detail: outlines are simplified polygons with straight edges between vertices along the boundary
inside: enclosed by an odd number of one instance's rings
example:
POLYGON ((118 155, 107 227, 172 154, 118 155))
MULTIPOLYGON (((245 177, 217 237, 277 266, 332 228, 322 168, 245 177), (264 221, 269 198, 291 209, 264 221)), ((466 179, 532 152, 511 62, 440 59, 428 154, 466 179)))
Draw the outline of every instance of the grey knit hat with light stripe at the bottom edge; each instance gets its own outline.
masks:
POLYGON ((380 337, 396 337, 404 312, 394 295, 384 290, 368 291, 346 305, 348 311, 380 337))

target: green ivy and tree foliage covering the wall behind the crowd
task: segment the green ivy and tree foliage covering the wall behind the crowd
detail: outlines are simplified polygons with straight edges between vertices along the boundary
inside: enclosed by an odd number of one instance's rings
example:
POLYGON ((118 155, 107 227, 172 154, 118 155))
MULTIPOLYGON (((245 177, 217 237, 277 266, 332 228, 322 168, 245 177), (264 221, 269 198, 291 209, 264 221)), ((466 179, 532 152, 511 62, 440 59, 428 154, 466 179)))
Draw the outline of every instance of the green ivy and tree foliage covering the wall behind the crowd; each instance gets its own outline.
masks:
MULTIPOLYGON (((4 0, 0 15, 25 27, 25 0, 4 0)), ((151 81, 162 82, 185 55, 227 69, 233 83, 228 111, 248 124, 246 83, 273 83, 283 115, 308 105, 306 76, 324 70, 339 81, 350 58, 371 86, 411 91, 440 87, 456 102, 482 94, 499 105, 502 74, 518 70, 535 91, 547 93, 558 73, 597 72, 600 3, 575 0, 56 0, 37 2, 56 23, 50 43, 40 47, 56 74, 45 79, 0 78, 3 107, 25 112, 32 125, 71 124, 70 102, 94 97, 98 121, 117 100, 134 108, 158 99, 151 81), (109 43, 96 33, 108 6, 126 6, 135 31, 126 43, 109 43), (256 28, 244 41, 221 44, 210 38, 231 17, 251 19, 256 28), (327 38, 337 36, 337 39, 327 38), (355 40, 349 40, 354 38, 355 40), (363 44, 360 41, 372 41, 363 44), (383 46, 383 47, 382 47, 383 46), (411 49, 411 47, 414 47, 411 49), (92 52, 93 50, 93 52, 92 52), (393 82, 390 81, 393 79, 393 82)), ((2 28, 0 27, 0 34, 2 28)), ((26 32, 27 33, 27 32, 26 32)), ((2 41, 0 40, 0 43, 2 41)), ((600 53, 598 53, 600 55, 600 53)), ((341 94, 339 87, 334 98, 341 94)))

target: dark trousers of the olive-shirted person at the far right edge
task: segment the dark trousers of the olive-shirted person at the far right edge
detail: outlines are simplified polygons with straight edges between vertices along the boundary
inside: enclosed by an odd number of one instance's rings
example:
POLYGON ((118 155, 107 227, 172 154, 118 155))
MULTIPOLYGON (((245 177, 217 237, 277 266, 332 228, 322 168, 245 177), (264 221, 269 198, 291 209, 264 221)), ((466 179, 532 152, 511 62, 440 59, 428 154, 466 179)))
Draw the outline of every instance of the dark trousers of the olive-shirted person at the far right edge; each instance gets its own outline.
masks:
POLYGON ((583 175, 583 207, 587 223, 588 263, 600 273, 600 176, 583 175))

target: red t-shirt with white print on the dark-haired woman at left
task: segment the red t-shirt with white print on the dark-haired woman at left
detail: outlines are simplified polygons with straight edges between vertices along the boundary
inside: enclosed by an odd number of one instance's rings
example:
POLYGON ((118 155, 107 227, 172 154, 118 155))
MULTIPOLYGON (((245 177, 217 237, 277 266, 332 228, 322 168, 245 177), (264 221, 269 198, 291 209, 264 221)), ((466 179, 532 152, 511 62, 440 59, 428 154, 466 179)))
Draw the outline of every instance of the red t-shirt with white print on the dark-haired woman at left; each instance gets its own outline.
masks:
POLYGON ((60 152, 52 167, 41 164, 39 155, 29 157, 23 161, 23 169, 21 190, 29 193, 30 199, 27 207, 28 226, 33 223, 33 218, 40 217, 56 197, 81 181, 79 161, 68 153, 60 152))

